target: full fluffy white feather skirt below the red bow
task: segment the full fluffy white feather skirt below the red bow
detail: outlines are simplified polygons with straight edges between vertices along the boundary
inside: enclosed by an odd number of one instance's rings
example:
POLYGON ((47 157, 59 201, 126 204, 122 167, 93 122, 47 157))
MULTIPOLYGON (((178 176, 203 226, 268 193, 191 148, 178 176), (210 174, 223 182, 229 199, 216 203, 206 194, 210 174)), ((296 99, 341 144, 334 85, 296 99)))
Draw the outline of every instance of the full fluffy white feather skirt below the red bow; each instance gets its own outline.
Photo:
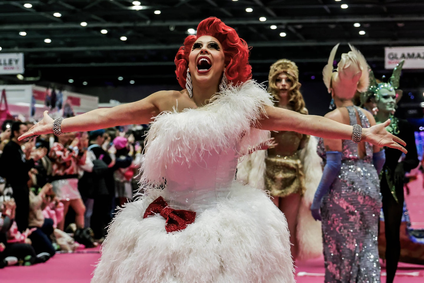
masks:
POLYGON ((263 191, 234 182, 228 198, 166 233, 143 219, 166 191, 151 191, 117 213, 92 283, 293 283, 287 221, 263 191))

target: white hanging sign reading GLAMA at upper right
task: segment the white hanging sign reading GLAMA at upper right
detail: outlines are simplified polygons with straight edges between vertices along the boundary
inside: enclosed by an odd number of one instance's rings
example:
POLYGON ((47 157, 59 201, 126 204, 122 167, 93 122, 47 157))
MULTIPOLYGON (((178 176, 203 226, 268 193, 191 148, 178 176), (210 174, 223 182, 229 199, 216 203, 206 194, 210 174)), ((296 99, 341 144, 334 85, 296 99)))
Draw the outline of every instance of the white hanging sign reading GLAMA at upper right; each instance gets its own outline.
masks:
POLYGON ((424 46, 386 47, 384 51, 386 69, 393 70, 402 59, 403 69, 424 69, 424 46))

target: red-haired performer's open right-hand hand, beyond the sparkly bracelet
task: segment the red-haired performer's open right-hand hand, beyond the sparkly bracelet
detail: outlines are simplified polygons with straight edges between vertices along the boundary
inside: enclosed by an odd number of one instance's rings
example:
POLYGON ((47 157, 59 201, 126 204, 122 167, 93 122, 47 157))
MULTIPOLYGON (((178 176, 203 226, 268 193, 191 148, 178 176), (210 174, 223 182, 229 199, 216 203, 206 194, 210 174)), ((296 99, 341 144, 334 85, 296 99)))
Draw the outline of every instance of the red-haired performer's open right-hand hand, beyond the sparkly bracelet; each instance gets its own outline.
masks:
POLYGON ((370 128, 362 129, 362 140, 379 147, 388 146, 393 149, 399 149, 406 154, 408 151, 403 147, 406 146, 406 143, 399 137, 396 137, 395 135, 387 132, 386 127, 388 125, 390 125, 390 119, 384 123, 374 125, 370 128))

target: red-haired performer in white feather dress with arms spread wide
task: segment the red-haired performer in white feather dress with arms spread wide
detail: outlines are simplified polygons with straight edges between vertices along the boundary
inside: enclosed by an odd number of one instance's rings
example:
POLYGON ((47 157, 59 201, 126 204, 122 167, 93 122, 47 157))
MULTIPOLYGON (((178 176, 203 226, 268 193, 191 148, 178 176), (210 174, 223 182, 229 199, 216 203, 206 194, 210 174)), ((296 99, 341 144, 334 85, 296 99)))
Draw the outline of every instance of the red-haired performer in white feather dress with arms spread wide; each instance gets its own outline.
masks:
POLYGON ((20 137, 153 121, 141 177, 145 194, 115 216, 92 282, 293 283, 285 217, 263 191, 234 179, 238 157, 263 142, 264 130, 339 139, 353 131, 401 150, 403 141, 386 124, 353 129, 273 107, 250 80, 247 44, 217 18, 199 24, 175 61, 187 89, 64 120, 46 112, 20 137))

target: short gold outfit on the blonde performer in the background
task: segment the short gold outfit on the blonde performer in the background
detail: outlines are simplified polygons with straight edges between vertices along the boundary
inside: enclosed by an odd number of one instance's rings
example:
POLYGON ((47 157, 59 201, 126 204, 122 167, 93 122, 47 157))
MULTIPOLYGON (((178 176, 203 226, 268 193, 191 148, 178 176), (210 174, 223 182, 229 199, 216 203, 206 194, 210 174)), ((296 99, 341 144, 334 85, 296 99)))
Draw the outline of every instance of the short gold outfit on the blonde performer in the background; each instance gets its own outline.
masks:
POLYGON ((271 196, 303 195, 304 173, 297 151, 309 136, 290 131, 271 132, 271 136, 277 145, 268 150, 265 159, 265 188, 271 196))

